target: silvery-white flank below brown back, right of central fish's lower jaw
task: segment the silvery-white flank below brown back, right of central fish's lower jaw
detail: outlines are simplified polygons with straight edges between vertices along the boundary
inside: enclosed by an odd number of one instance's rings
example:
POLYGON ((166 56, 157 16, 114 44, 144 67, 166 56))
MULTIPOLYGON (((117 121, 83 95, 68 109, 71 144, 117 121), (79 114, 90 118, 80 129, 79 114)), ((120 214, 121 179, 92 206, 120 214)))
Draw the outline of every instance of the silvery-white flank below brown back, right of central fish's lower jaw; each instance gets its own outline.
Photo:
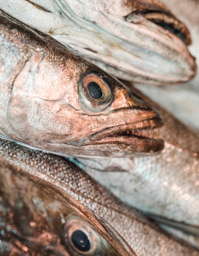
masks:
POLYGON ((81 160, 84 169, 100 184, 132 207, 165 218, 199 225, 199 157, 165 142, 157 156, 101 160, 103 175, 95 162, 81 160), (109 162, 109 163, 108 163, 109 162), (115 163, 114 163, 115 162, 115 163), (172 166, 171 166, 172 163, 172 166), (89 167, 86 167, 90 166, 89 167), (116 171, 105 170, 117 165, 116 171), (142 193, 140 193, 142 191, 142 193), (198 192, 197 192, 198 191, 198 192), (154 208, 155 201, 155 208, 154 208))

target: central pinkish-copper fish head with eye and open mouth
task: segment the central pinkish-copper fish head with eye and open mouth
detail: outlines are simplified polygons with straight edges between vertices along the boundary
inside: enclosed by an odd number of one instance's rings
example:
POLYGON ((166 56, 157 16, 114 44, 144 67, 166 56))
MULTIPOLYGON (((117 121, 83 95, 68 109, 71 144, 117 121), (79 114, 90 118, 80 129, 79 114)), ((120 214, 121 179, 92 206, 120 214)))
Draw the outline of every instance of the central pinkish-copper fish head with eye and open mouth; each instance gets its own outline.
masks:
POLYGON ((76 156, 122 157, 163 148, 162 140, 142 135, 163 124, 147 103, 53 38, 11 19, 1 18, 7 53, 1 61, 7 72, 2 135, 76 156))

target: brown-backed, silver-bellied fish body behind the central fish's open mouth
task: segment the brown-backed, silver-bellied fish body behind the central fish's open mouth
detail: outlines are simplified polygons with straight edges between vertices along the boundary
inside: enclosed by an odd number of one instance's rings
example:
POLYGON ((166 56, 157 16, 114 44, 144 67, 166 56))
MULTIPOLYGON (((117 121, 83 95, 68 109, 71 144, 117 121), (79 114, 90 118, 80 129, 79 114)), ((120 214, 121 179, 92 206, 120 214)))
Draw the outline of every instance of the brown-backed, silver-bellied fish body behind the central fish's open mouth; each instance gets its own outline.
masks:
POLYGON ((162 152, 141 158, 78 160, 85 164, 82 167, 89 175, 123 202, 197 226, 199 234, 199 137, 143 94, 140 96, 165 119, 162 128, 151 131, 152 137, 164 139, 162 152), (101 171, 105 171, 103 175, 101 171))

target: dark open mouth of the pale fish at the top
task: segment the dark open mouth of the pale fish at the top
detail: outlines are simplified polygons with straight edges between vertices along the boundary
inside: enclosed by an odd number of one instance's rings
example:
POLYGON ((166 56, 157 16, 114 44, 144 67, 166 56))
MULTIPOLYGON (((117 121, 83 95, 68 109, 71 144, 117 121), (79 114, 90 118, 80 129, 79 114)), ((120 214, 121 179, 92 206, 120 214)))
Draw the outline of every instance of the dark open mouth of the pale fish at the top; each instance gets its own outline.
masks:
POLYGON ((192 43, 188 28, 169 11, 159 12, 157 10, 137 10, 130 13, 126 17, 126 20, 131 21, 133 20, 132 17, 138 14, 163 29, 170 31, 172 34, 180 38, 186 45, 190 45, 192 43))

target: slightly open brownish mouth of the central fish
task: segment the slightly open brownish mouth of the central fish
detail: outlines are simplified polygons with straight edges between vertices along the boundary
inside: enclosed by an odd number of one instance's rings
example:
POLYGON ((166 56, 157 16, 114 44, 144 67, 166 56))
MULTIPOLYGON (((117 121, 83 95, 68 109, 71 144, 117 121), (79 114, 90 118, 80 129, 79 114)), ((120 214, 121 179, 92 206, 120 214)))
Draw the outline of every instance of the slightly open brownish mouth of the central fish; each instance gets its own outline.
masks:
POLYGON ((132 124, 113 126, 90 135, 87 139, 71 141, 73 146, 101 146, 104 150, 147 155, 148 153, 159 153, 164 147, 162 139, 153 137, 154 128, 161 127, 163 119, 159 116, 138 121, 132 124))

